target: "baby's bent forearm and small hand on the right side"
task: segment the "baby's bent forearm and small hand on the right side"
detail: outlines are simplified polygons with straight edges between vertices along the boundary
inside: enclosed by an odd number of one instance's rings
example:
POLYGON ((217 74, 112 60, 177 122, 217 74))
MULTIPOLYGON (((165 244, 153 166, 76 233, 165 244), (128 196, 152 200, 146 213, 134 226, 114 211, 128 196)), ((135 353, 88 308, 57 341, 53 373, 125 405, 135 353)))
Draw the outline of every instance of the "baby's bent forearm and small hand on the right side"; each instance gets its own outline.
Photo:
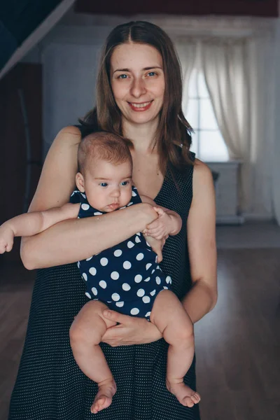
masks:
POLYGON ((177 235, 182 227, 182 219, 176 211, 165 209, 165 207, 157 206, 151 198, 146 195, 141 196, 142 202, 148 202, 153 205, 154 210, 158 213, 158 218, 148 225, 144 233, 155 239, 167 238, 169 235, 177 235))

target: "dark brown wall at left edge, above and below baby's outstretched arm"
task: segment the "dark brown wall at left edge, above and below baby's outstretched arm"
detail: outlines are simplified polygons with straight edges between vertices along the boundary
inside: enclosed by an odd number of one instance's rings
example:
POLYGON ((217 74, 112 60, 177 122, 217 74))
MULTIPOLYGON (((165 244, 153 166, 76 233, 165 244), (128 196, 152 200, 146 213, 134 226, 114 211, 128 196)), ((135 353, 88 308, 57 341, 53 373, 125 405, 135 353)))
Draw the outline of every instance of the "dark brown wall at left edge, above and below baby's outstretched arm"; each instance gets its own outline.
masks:
MULTIPOLYGON (((42 157, 42 68, 41 64, 15 66, 0 80, 0 224, 21 214, 25 204, 27 165, 31 168, 31 188, 27 204, 36 190, 42 157), (19 89, 25 97, 31 141, 31 159, 27 162, 25 123, 19 89)), ((20 239, 13 251, 0 255, 4 260, 20 260, 20 239)))

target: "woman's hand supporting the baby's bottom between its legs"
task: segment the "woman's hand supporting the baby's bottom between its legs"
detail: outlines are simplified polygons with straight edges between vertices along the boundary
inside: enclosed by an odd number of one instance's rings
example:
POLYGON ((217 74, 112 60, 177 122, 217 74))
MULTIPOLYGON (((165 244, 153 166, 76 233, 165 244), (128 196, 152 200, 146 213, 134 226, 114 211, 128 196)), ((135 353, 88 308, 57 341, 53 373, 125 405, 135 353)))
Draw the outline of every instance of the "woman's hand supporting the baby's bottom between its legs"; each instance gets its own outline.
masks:
POLYGON ((158 328, 145 318, 119 314, 111 309, 104 311, 104 317, 119 323, 108 328, 102 337, 102 342, 112 347, 147 344, 162 338, 162 333, 158 328))

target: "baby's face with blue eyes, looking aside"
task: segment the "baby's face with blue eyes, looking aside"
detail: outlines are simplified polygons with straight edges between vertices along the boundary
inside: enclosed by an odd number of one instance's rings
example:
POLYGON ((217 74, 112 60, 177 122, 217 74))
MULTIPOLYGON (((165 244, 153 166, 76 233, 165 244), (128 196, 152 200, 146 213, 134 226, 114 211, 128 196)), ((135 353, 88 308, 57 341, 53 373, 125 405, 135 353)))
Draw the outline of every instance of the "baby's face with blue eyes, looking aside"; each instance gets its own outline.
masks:
POLYGON ((132 165, 124 162, 113 165, 94 160, 84 176, 87 201, 94 209, 109 213, 126 206, 132 197, 132 165))

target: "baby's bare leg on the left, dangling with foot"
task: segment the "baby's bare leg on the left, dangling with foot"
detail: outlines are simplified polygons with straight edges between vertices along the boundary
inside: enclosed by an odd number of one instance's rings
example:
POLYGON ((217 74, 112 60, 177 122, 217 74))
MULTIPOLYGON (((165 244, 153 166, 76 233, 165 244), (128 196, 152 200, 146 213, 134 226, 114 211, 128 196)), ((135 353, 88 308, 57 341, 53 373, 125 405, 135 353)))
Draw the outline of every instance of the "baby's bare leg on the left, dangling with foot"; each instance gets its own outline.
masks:
POLYGON ((116 383, 99 346, 106 329, 116 325, 103 317, 104 309, 107 307, 102 302, 87 302, 70 328, 71 349, 76 363, 87 377, 98 384, 99 391, 91 407, 94 414, 109 407, 116 393, 116 383))

